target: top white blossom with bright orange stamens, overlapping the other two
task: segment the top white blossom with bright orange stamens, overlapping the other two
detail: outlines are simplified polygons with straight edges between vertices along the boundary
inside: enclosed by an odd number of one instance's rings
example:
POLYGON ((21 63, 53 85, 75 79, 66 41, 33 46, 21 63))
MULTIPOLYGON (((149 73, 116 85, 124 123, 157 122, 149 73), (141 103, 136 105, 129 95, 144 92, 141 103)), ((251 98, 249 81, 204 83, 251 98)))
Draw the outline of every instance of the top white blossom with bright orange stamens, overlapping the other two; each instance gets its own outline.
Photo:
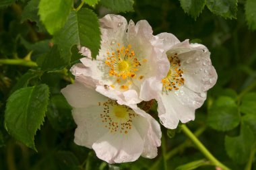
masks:
POLYGON ((100 30, 102 41, 96 60, 88 48, 81 47, 80 52, 88 57, 81 58, 82 63, 74 65, 71 72, 97 80, 96 91, 115 97, 119 104, 141 102, 141 89, 151 91, 148 83, 161 81, 168 73, 163 40, 153 36, 146 20, 127 24, 121 15, 100 19, 100 30))

